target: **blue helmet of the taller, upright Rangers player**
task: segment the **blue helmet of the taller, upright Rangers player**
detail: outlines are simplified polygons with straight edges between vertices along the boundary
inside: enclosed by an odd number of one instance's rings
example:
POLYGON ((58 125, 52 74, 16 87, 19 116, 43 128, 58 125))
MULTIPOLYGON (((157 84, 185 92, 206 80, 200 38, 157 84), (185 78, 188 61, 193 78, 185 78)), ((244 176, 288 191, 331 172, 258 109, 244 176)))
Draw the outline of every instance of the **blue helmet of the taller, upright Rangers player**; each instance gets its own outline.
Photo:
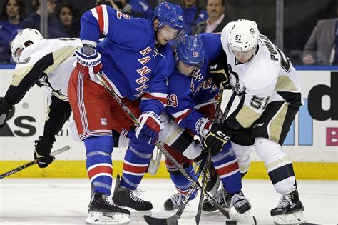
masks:
POLYGON ((185 25, 182 8, 169 2, 163 2, 156 6, 153 21, 154 19, 158 19, 158 26, 160 28, 170 26, 173 29, 182 31, 185 25))

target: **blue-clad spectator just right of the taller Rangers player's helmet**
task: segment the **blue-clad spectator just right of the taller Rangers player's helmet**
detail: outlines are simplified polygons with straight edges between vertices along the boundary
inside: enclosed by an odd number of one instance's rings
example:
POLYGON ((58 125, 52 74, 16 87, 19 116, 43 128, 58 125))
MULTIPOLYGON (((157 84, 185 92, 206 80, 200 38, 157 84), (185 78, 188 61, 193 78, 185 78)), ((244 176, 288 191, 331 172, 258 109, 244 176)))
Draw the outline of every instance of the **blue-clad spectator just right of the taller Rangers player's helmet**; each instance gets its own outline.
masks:
POLYGON ((191 35, 196 24, 208 19, 206 11, 196 5, 196 0, 183 0, 183 17, 185 34, 191 35))

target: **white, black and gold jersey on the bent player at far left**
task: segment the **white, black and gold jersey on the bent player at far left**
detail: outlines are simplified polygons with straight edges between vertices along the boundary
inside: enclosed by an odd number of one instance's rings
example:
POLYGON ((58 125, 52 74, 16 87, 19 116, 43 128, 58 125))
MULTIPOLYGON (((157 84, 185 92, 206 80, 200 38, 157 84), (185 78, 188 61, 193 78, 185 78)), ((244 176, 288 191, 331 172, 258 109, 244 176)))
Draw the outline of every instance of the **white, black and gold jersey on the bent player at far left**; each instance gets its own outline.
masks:
POLYGON ((43 39, 26 47, 16 64, 6 99, 16 104, 35 83, 63 101, 68 101, 68 81, 76 60, 80 39, 43 39), (37 81, 37 82, 36 82, 37 81))

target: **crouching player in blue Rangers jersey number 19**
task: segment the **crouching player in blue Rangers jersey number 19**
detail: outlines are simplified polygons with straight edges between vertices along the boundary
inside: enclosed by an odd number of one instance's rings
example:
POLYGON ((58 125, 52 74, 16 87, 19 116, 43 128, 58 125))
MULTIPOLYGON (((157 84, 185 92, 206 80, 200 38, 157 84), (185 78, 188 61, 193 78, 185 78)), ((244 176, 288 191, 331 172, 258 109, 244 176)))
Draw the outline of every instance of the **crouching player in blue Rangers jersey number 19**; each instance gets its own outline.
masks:
MULTIPOLYGON (((220 35, 200 34, 198 36, 183 36, 175 55, 176 69, 170 76, 168 87, 170 103, 168 103, 166 111, 173 116, 178 126, 200 136, 200 139, 203 139, 214 125, 212 123, 212 119, 215 117, 214 103, 219 89, 212 81, 208 65, 216 60, 221 52, 220 35)), ((165 132, 166 129, 167 126, 161 132, 165 132)), ((166 139, 168 140, 168 138, 166 139)), ((173 147, 173 145, 170 146, 173 147)), ((168 150, 174 156, 178 156, 175 150, 168 150)), ((201 154, 201 148, 187 148, 182 154, 190 159, 195 159, 201 154)), ((182 158, 182 156, 178 156, 178 159, 182 158)), ((184 159, 180 161, 183 165, 185 162, 184 159)), ((223 184, 222 189, 216 194, 216 197, 221 199, 220 205, 224 207, 231 205, 238 213, 245 213, 251 208, 251 205, 242 194, 240 170, 230 143, 222 149, 212 152, 212 163, 223 184)), ((178 193, 165 201, 164 206, 167 210, 178 209, 184 199, 184 194, 189 189, 190 181, 180 174, 178 169, 173 169, 171 164, 167 164, 167 168, 178 193)), ((192 176, 194 175, 191 165, 186 164, 185 169, 192 176)), ((193 193, 190 198, 193 199, 195 194, 193 193)), ((214 208, 212 204, 203 205, 205 211, 215 211, 214 208)))

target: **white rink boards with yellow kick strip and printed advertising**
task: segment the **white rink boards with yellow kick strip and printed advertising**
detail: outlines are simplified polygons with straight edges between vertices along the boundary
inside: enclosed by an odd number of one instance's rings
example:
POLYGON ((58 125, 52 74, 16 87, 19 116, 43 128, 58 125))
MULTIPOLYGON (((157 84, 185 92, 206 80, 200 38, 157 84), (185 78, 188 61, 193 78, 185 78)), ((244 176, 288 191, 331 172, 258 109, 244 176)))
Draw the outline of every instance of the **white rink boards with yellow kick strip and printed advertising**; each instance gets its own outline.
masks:
MULTIPOLYGON (((300 67, 298 74, 302 86, 304 106, 299 110, 287 135, 283 149, 295 162, 298 179, 338 179, 338 71, 337 67, 319 67, 309 70, 300 67), (336 69, 335 71, 332 69, 336 69)), ((0 69, 0 96, 4 96, 11 83, 13 69, 0 69)), ((230 92, 225 93, 222 108, 230 92)), ((34 140, 43 133, 46 118, 46 94, 34 86, 9 115, 0 129, 0 173, 9 171, 33 159, 34 140)), ((236 104, 234 104, 235 106, 236 104)), ((86 151, 82 143, 70 139, 68 123, 56 137, 53 149, 71 145, 72 149, 56 157, 48 169, 32 166, 12 177, 85 177, 86 151)), ((114 149, 113 174, 121 174, 125 149, 114 149)), ((252 151, 252 164, 248 178, 267 178, 265 166, 252 151)), ((167 178, 162 162, 155 176, 167 178)))

